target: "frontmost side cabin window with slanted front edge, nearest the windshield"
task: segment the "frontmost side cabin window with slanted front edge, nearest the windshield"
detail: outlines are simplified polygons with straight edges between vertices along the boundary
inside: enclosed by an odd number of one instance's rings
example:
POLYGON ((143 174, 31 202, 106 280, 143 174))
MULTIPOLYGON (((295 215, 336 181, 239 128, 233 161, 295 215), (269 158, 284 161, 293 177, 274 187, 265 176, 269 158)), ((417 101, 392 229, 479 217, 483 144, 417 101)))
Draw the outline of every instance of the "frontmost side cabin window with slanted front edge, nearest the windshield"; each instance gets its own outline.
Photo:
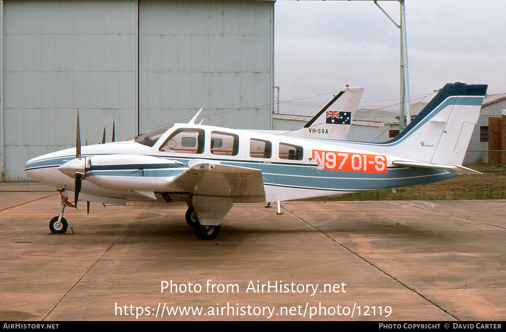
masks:
POLYGON ((167 138, 160 151, 202 153, 204 151, 204 131, 201 129, 177 129, 167 138))

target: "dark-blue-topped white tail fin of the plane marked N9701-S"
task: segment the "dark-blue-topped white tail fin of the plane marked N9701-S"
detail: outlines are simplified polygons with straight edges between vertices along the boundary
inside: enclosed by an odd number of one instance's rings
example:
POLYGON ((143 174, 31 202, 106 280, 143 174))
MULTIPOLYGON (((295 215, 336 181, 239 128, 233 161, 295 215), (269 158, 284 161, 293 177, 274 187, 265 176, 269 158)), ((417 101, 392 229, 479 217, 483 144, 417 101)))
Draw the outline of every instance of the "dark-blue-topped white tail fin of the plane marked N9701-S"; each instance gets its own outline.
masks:
POLYGON ((392 149, 391 155, 461 165, 486 91, 487 85, 445 85, 399 135, 382 144, 392 149))

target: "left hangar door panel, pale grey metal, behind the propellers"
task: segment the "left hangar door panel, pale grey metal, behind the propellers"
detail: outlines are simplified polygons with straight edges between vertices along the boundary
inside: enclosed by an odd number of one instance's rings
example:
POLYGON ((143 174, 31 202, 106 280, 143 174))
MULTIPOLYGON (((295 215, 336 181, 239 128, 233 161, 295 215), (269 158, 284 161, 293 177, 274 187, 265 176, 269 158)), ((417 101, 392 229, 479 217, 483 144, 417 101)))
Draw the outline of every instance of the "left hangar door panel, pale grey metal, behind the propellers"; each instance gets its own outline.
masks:
POLYGON ((113 120, 136 132, 134 2, 4 1, 3 23, 2 181, 28 181, 28 159, 74 146, 77 108, 83 143, 113 120))

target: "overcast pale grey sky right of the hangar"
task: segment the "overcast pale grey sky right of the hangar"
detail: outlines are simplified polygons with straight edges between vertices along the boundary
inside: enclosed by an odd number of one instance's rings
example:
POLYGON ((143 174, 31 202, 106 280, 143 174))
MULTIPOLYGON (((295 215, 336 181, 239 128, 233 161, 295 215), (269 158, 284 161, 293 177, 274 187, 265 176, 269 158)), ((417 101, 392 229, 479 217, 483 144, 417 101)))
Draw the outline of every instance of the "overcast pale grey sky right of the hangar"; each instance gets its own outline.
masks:
MULTIPOLYGON (((378 4, 400 23, 398 2, 378 4)), ((405 8, 411 98, 455 80, 488 84, 488 94, 506 92, 506 1, 405 0, 405 8)), ((349 84, 365 87, 360 107, 394 104, 371 101, 399 99, 399 41, 399 29, 372 1, 278 0, 274 72, 280 99, 349 84)), ((280 110, 309 114, 314 108, 280 110)))

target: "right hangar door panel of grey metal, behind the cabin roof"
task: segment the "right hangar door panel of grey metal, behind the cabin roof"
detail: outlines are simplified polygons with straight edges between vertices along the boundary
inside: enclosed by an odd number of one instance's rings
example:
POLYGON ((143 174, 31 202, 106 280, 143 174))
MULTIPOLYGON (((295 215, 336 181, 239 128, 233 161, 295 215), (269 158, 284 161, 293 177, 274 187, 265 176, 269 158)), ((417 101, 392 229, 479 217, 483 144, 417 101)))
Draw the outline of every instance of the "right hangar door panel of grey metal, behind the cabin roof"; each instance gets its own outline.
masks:
POLYGON ((273 15, 268 1, 141 2, 141 132, 200 107, 204 125, 270 129, 273 15))

